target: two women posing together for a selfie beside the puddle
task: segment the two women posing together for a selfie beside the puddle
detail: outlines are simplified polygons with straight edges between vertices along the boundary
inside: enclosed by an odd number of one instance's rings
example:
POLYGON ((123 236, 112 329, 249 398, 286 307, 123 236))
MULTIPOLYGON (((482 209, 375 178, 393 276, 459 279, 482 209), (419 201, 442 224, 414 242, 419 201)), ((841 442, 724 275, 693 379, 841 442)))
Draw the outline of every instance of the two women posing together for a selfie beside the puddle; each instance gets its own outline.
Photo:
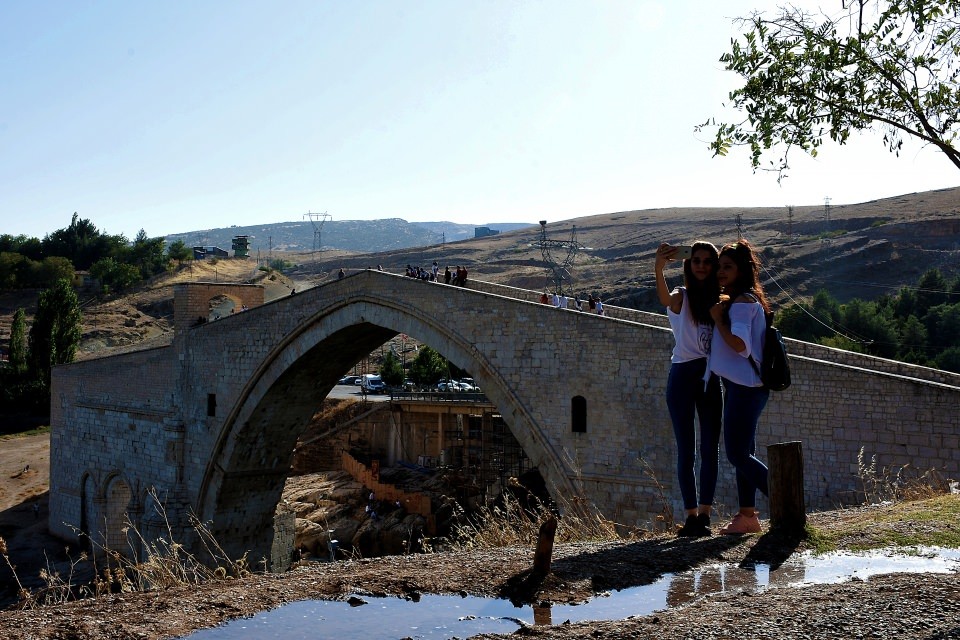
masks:
POLYGON ((663 269, 677 255, 677 247, 662 244, 654 263, 657 295, 667 307, 675 338, 667 407, 677 440, 677 477, 687 516, 677 533, 710 535, 721 430, 727 458, 736 469, 740 509, 720 532, 755 533, 760 531, 756 492, 767 494, 767 467, 754 455, 756 433, 770 393, 751 363, 752 358, 759 367, 769 310, 759 261, 744 240, 719 252, 709 242, 696 242, 683 261, 684 286, 670 291, 663 269), (699 497, 694 413, 700 422, 699 497))

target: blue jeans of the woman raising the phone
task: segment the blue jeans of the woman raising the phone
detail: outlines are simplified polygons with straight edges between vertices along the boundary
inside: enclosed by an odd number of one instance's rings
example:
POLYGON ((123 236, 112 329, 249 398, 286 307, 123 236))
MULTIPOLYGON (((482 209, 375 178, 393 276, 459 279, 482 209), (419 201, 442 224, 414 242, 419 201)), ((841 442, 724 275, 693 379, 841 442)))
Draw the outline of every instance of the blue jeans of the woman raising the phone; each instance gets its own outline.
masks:
POLYGON ((698 504, 713 504, 717 489, 723 396, 720 380, 712 374, 704 390, 703 373, 706 368, 706 358, 675 362, 670 365, 670 376, 667 378, 667 409, 673 421, 673 435, 677 439, 677 479, 684 509, 696 509, 698 504), (697 449, 694 411, 700 417, 699 500, 694 474, 697 449))

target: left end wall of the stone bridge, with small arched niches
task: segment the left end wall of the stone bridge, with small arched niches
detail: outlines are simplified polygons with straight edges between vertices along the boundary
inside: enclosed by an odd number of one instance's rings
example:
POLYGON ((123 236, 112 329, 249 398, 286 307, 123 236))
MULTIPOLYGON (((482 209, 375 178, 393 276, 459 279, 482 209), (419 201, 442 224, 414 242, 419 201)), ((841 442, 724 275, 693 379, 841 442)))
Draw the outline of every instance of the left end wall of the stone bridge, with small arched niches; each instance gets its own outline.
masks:
MULTIPOLYGON (((177 486, 183 449, 169 347, 87 360, 53 369, 50 424, 50 530, 77 540, 86 510, 86 533, 107 515, 108 482, 120 476, 142 513, 150 486, 177 486), (85 479, 94 495, 82 495, 85 479)), ((122 506, 121 506, 122 507, 122 506)), ((109 511, 116 511, 111 505, 109 511)))

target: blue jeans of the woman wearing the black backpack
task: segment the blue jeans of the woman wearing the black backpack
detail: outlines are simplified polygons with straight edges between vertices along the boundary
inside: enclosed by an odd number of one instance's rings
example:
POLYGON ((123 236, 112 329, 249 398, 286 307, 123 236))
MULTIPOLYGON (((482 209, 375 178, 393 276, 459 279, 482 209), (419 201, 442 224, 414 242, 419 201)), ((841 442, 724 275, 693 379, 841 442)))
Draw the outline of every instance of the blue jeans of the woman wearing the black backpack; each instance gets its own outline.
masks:
POLYGON ((737 470, 737 498, 740 508, 756 506, 757 489, 769 495, 767 466, 756 455, 757 423, 767 406, 770 390, 745 387, 723 379, 723 446, 737 470))

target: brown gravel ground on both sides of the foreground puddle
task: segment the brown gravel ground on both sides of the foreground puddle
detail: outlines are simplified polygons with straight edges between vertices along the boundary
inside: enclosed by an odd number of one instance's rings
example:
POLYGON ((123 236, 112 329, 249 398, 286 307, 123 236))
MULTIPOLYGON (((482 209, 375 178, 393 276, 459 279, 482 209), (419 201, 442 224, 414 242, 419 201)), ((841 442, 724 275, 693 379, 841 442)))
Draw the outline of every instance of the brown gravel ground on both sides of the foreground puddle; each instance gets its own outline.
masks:
MULTIPOLYGON (((286 602, 343 599, 358 591, 407 598, 453 593, 526 603, 582 602, 597 593, 650 584, 664 573, 718 562, 778 566, 799 548, 771 535, 566 544, 555 549, 551 572, 542 580, 531 575, 533 553, 525 547, 311 564, 283 575, 4 611, 0 637, 160 640, 286 602)), ((733 589, 652 615, 576 624, 555 620, 553 626, 524 627, 513 635, 612 640, 960 638, 960 576, 896 574, 833 585, 733 589)))

